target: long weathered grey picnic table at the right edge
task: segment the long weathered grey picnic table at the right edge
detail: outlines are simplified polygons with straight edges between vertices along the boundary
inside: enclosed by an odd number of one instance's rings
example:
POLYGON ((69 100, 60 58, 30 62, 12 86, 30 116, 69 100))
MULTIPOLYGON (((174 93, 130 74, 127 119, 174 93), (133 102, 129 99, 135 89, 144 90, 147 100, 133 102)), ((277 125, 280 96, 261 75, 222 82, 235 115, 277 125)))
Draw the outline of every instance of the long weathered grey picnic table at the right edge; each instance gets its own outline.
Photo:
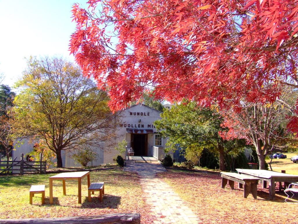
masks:
POLYGON ((239 174, 258 177, 263 181, 263 188, 269 184, 269 195, 274 198, 275 182, 298 182, 298 175, 279 173, 270 170, 236 169, 239 174))

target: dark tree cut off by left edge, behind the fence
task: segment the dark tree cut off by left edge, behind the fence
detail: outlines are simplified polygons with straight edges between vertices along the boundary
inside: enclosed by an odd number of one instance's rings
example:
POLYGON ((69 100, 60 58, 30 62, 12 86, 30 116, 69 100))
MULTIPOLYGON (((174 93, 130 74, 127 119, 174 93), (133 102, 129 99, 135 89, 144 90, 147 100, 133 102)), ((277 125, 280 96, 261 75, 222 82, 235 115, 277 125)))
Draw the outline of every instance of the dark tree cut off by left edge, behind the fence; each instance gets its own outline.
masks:
POLYGON ((10 110, 13 107, 15 93, 7 85, 0 85, 0 150, 4 151, 9 160, 13 150, 13 132, 11 129, 13 118, 10 110))

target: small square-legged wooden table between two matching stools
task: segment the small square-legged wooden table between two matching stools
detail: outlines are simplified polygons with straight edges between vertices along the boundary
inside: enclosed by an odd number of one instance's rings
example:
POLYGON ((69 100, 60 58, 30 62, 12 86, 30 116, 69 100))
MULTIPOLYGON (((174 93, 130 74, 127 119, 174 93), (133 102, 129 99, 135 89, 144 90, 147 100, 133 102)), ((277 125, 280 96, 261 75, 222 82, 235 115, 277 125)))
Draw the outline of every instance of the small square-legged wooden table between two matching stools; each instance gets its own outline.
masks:
POLYGON ((88 188, 89 188, 89 186, 90 186, 89 171, 60 173, 60 174, 57 174, 55 176, 49 177, 49 181, 50 181, 50 204, 53 204, 53 180, 62 180, 62 182, 63 182, 63 195, 66 195, 65 180, 77 180, 77 183, 78 183, 78 197, 79 197, 78 203, 81 204, 82 203, 82 178, 83 177, 87 177, 88 188))

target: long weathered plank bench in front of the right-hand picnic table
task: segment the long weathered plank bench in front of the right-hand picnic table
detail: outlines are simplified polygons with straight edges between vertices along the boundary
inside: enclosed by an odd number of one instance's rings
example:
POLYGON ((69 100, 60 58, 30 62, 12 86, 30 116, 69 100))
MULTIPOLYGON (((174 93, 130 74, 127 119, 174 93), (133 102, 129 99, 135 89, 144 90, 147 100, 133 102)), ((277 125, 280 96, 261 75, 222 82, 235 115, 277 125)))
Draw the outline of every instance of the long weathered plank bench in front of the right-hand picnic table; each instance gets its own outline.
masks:
POLYGON ((234 181, 239 183, 241 188, 244 184, 244 198, 247 198, 249 193, 252 193, 254 199, 257 199, 257 184, 260 179, 246 174, 237 174, 230 172, 221 172, 221 188, 224 188, 229 181, 231 189, 234 189, 234 181))

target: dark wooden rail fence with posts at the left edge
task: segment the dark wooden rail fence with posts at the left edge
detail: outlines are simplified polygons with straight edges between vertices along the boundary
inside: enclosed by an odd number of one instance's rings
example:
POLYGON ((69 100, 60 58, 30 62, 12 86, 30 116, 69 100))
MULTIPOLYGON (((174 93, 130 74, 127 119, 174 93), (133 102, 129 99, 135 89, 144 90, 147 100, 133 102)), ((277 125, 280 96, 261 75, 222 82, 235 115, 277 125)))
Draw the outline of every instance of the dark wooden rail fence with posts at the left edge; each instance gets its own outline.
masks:
POLYGON ((21 160, 1 160, 0 158, 0 175, 4 174, 44 174, 46 173, 46 161, 42 161, 42 153, 40 154, 40 161, 26 161, 24 154, 21 155, 21 160))

